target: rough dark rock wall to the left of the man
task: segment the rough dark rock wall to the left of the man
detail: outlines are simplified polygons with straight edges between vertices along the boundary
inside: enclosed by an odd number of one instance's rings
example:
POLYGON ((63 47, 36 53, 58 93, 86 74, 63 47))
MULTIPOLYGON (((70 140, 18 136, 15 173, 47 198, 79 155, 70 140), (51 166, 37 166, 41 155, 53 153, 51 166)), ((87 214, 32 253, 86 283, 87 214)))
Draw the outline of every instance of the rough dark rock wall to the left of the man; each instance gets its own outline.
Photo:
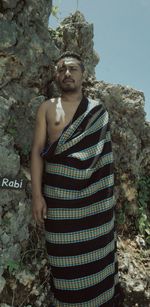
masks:
MULTIPOLYGON (((53 60, 59 54, 48 31, 51 6, 52 1, 47 0, 0 2, 0 177, 20 177, 25 183, 29 177, 21 164, 26 163, 23 157, 28 157, 31 148, 32 112, 45 99, 53 60)), ((30 249, 36 259, 38 249, 44 246, 41 239, 38 243, 40 235, 35 240, 36 247, 31 244, 32 233, 36 233, 32 224, 28 184, 23 190, 1 189, 0 301, 4 303, 13 305, 17 280, 23 284, 23 277, 16 275, 13 282, 10 275, 18 270, 24 272, 25 259, 29 255, 32 258, 30 249)), ((27 280, 29 274, 27 268, 27 280)))

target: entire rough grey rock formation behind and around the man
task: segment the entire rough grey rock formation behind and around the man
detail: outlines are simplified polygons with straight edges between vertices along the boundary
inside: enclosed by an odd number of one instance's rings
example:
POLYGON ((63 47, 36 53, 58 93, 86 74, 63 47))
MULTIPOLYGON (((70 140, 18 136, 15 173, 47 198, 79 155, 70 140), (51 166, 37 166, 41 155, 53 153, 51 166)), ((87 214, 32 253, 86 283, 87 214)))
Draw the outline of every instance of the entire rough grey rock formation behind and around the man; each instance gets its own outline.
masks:
MULTIPOLYGON (((84 90, 109 110, 116 203, 124 218, 136 218, 137 183, 150 175, 150 123, 145 121, 143 93, 96 81, 99 57, 93 49, 93 25, 76 12, 56 31, 48 30, 51 6, 49 0, 0 2, 0 176, 17 176, 26 183, 23 190, 1 190, 1 307, 48 306, 50 270, 43 231, 31 219, 29 153, 36 109, 46 97, 57 94, 52 76, 61 51, 78 50, 88 72, 84 90)), ((132 219, 127 220, 121 228, 125 234, 125 226, 132 226, 132 219)), ((125 306, 147 307, 147 245, 142 237, 139 246, 134 232, 132 238, 118 241, 120 279, 125 306)))

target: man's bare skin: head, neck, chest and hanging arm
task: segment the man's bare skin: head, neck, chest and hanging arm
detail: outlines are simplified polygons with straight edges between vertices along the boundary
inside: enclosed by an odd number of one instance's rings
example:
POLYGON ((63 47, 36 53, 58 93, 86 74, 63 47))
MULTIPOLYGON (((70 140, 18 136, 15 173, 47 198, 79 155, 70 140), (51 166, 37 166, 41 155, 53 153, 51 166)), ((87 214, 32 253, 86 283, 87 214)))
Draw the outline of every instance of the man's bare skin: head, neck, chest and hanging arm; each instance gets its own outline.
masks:
POLYGON ((37 112, 31 156, 32 212, 41 226, 47 215, 47 206, 42 195, 43 159, 40 156, 47 141, 55 142, 71 120, 82 99, 83 68, 80 61, 67 57, 56 66, 55 80, 61 97, 43 102, 37 112))

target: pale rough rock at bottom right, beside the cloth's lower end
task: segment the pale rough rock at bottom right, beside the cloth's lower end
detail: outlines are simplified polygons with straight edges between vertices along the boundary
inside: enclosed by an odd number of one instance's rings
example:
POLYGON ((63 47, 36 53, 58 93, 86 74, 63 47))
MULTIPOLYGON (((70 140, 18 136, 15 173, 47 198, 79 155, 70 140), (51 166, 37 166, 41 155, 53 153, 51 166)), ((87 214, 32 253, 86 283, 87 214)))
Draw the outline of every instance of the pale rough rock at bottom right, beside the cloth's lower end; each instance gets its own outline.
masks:
POLYGON ((125 306, 148 306, 150 301, 150 251, 143 249, 142 237, 118 238, 119 272, 125 290, 125 306), (136 302, 136 305, 134 305, 136 302))

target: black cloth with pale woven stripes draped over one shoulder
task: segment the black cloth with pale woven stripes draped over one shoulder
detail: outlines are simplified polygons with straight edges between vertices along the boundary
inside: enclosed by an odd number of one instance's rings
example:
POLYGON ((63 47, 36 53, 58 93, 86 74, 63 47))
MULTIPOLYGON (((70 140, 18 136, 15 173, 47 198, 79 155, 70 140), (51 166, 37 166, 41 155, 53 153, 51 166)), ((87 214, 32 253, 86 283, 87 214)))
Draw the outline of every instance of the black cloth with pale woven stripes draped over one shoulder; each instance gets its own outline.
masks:
POLYGON ((58 307, 117 306, 113 154, 103 104, 84 97, 42 157, 51 302, 58 307))

